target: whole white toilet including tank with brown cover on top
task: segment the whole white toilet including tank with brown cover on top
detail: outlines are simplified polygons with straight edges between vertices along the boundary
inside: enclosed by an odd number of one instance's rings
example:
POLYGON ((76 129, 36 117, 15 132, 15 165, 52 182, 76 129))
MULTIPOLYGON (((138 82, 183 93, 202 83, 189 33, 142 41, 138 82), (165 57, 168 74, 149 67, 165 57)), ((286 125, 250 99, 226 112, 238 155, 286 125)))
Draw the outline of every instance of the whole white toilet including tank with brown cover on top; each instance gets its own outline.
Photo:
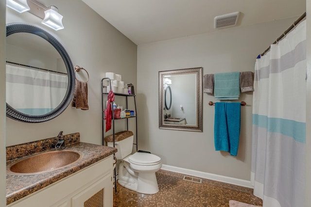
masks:
MULTIPOLYGON (((113 146, 112 135, 105 137, 108 146, 113 146)), ((136 152, 133 155, 133 132, 121 131, 115 134, 115 154, 119 165, 119 179, 121 186, 144 194, 154 194, 159 191, 155 172, 162 166, 161 158, 144 152, 136 152)))

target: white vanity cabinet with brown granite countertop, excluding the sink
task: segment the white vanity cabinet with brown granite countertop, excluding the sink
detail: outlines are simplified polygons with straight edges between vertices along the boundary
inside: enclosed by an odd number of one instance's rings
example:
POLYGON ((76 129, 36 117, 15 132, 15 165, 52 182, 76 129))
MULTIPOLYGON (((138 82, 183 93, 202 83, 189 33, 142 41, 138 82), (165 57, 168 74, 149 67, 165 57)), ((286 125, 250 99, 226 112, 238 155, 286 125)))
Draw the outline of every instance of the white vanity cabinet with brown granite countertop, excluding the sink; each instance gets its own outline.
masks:
MULTIPOLYGON (((35 148, 41 145, 35 143, 35 148)), ((66 145, 65 150, 77 151, 82 158, 48 173, 7 175, 8 207, 113 206, 113 154, 117 149, 78 142, 66 145)))

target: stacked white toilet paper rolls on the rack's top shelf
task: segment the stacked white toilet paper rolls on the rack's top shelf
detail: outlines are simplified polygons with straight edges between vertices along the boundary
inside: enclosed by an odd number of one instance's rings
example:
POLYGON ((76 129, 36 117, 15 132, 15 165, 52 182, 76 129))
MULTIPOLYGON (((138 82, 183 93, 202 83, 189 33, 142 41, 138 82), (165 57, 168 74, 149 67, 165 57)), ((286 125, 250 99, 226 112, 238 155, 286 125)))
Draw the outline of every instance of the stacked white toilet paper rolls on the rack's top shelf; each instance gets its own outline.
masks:
POLYGON ((106 72, 105 78, 109 78, 111 81, 111 85, 109 85, 108 80, 103 81, 103 85, 106 87, 106 93, 108 93, 111 89, 114 93, 128 94, 127 84, 122 81, 122 76, 120 74, 106 72))

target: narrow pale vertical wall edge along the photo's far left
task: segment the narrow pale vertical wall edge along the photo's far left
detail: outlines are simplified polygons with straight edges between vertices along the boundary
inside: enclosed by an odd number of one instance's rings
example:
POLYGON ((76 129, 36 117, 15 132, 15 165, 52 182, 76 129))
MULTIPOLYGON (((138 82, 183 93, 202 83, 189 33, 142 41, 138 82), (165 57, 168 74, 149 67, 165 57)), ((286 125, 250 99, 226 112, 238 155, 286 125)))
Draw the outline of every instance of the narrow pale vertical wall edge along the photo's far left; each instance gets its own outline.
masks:
POLYGON ((5 184, 5 1, 0 1, 0 206, 6 205, 5 184))

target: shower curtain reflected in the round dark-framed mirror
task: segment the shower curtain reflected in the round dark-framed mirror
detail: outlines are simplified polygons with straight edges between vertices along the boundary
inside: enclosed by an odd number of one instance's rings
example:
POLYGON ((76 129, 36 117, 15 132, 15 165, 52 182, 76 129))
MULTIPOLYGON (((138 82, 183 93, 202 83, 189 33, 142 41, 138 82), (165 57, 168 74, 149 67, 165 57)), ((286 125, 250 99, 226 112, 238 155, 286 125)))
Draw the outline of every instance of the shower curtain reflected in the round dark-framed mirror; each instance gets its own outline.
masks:
POLYGON ((6 102, 20 112, 42 115, 55 109, 67 92, 68 76, 6 65, 6 102))

